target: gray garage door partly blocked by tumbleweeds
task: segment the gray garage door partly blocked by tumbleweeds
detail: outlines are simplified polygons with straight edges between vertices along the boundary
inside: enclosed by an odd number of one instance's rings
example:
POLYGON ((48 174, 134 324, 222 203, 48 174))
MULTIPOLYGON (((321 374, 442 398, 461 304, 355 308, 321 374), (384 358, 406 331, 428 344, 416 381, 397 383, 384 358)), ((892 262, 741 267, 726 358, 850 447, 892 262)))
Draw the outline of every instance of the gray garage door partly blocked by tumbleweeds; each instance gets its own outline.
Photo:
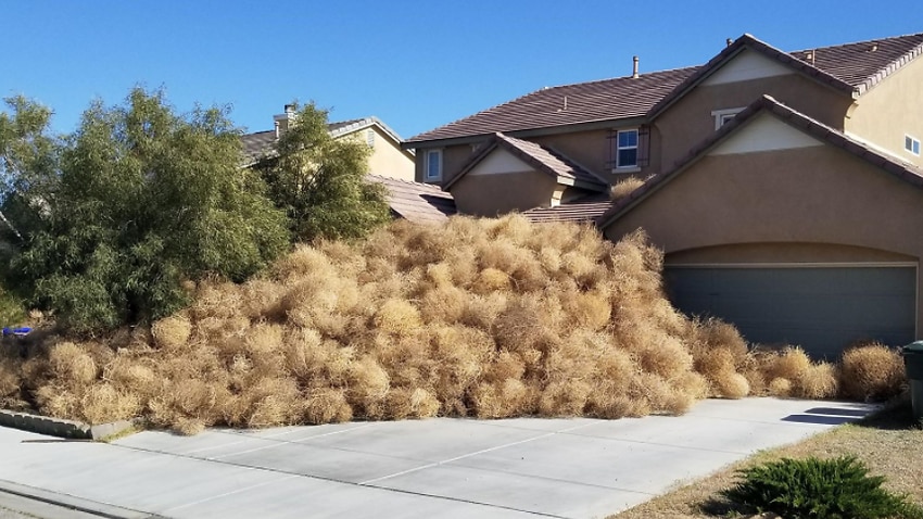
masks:
POLYGON ((750 342, 835 358, 859 339, 914 339, 914 267, 667 267, 673 304, 737 326, 750 342))

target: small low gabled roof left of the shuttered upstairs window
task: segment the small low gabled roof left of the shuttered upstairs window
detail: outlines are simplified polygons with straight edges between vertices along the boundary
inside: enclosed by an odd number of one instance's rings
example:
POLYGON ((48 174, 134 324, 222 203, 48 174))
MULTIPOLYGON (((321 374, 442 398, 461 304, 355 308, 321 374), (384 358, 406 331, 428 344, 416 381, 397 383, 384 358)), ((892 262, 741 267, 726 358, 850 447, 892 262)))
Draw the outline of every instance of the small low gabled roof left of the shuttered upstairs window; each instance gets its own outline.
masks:
POLYGON ((491 137, 483 150, 462 168, 458 175, 445 182, 443 189, 447 190, 497 148, 513 153, 517 159, 522 160, 536 170, 551 175, 558 183, 596 190, 608 186, 605 180, 553 148, 497 132, 491 137))

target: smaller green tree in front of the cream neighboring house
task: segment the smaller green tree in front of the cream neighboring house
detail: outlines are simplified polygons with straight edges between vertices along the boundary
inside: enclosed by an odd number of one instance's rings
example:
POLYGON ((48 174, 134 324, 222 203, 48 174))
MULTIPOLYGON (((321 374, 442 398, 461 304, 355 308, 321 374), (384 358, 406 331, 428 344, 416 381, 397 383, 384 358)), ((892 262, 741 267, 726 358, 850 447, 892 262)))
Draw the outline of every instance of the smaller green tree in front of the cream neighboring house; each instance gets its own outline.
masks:
POLYGON ((294 122, 279 138, 278 155, 257 166, 269 195, 289 217, 296 240, 352 239, 390 221, 385 188, 366 179, 368 145, 333 139, 327 111, 294 104, 294 122))

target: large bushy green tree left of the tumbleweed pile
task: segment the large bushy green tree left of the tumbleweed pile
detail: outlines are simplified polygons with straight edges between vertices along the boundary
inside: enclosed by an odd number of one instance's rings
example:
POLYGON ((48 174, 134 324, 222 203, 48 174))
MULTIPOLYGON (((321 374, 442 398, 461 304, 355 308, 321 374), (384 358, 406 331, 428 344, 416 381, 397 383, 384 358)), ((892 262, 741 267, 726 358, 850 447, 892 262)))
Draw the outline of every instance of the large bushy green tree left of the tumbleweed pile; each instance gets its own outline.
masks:
POLYGON ((187 304, 184 281, 240 281, 289 246, 285 214, 240 167, 226 110, 180 116, 136 88, 53 137, 48 109, 8 105, 0 201, 22 237, 9 277, 74 331, 160 318, 187 304))

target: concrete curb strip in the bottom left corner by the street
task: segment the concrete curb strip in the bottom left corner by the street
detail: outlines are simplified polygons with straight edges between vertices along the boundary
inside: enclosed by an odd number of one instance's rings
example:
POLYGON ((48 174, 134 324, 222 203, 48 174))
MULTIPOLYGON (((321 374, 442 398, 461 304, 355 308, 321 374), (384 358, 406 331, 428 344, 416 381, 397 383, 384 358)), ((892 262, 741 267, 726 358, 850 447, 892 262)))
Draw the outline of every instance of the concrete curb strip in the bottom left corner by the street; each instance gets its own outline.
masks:
POLYGON ((3 495, 15 498, 14 511, 41 514, 38 517, 103 517, 106 519, 163 519, 163 516, 132 510, 121 506, 98 503, 68 494, 0 480, 0 501, 3 495), (26 508, 26 509, 22 509, 26 508))

